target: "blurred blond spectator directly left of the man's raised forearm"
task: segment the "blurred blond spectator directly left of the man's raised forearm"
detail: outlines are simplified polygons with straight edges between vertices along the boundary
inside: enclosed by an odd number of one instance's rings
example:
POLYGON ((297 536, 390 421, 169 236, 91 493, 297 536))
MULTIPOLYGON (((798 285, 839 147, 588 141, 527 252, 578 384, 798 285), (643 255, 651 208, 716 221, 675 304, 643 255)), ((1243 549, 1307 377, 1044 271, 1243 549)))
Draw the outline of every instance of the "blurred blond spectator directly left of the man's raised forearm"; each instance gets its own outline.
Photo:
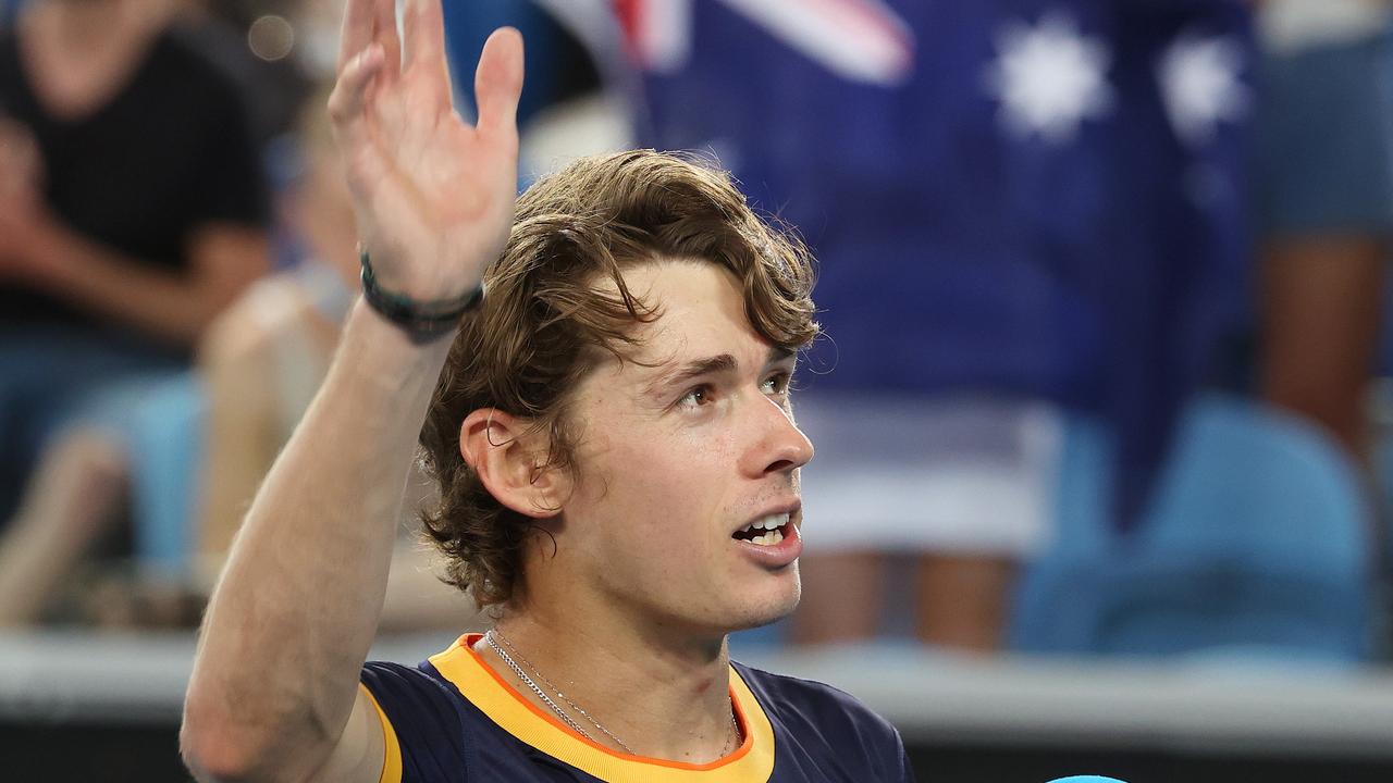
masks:
POLYGON ((325 100, 316 95, 305 109, 299 174, 280 199, 299 259, 252 284, 199 350, 209 417, 198 548, 219 564, 247 503, 319 389, 358 290, 354 216, 325 100))

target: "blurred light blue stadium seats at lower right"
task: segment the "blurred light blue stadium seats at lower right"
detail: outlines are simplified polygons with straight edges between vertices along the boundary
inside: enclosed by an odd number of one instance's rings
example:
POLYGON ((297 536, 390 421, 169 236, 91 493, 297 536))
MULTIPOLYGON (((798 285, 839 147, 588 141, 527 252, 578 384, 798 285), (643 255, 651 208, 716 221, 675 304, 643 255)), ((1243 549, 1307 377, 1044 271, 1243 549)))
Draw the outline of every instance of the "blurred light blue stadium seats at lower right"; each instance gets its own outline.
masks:
POLYGON ((1323 433, 1252 403, 1201 398, 1130 538, 1106 524, 1107 453, 1098 431, 1071 428, 1059 536, 1021 580, 1013 646, 1368 656, 1368 509, 1323 433))

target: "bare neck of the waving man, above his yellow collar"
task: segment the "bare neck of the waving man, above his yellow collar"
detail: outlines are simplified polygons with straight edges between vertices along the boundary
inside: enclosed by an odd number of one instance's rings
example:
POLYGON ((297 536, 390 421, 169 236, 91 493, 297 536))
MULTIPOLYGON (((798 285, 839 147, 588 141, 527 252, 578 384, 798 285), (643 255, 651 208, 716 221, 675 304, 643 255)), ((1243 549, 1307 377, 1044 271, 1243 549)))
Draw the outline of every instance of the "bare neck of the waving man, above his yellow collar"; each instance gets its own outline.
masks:
MULTIPOLYGON (((613 616, 575 621, 581 616, 524 607, 504 614, 497 630, 536 673, 561 688, 566 698, 632 752, 705 763, 733 750, 724 637, 680 639, 613 616)), ((518 684, 518 677, 488 645, 481 642, 475 651, 507 681, 518 684)), ((529 688, 518 690, 550 711, 529 688)), ((550 695, 556 698, 554 692, 550 695)), ((564 704, 561 708, 571 712, 564 704)), ((582 726, 593 726, 582 716, 574 718, 582 726)), ((591 734, 614 745, 602 733, 591 734)))

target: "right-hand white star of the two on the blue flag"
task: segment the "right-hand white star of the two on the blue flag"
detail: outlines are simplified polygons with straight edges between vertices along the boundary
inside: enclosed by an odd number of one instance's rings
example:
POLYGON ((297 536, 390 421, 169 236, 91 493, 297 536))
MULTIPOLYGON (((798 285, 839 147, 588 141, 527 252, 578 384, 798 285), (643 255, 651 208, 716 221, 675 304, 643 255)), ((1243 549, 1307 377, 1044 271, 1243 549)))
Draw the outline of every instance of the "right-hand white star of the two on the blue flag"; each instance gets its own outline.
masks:
POLYGON ((1243 47, 1234 40, 1184 35, 1156 70, 1170 124, 1191 146, 1208 142, 1219 123, 1240 120, 1248 110, 1251 99, 1238 79, 1243 47))

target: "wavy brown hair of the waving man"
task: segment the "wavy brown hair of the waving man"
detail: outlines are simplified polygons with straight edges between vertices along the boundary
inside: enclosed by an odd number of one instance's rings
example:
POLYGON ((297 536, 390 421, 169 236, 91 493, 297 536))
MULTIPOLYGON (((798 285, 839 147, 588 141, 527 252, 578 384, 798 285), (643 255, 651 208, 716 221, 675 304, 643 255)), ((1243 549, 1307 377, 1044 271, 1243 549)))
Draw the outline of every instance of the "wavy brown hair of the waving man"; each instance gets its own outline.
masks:
POLYGON ((573 470, 570 392, 605 352, 625 359, 634 325, 657 318, 621 272, 663 258, 730 270, 745 315, 770 344, 797 351, 816 337, 807 248, 761 219, 724 171, 632 150, 584 157, 528 188, 503 254, 483 274, 483 304, 460 325, 421 431, 422 464, 440 489, 439 506, 422 513, 426 534, 444 555, 444 581, 472 591, 481 606, 514 596, 534 520, 495 500, 465 464, 465 417, 497 408, 529 419, 549 431, 546 467, 573 470))

